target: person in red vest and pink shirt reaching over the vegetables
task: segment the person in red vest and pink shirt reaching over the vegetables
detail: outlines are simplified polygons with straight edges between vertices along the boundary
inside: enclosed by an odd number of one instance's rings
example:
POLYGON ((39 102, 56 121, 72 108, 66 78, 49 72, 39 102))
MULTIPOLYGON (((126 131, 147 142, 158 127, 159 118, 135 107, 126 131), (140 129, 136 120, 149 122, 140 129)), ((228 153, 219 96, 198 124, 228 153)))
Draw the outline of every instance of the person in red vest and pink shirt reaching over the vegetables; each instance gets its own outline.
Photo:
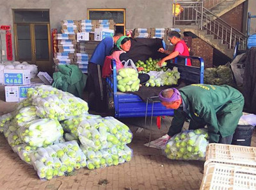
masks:
MULTIPOLYGON (((180 34, 177 31, 170 31, 168 33, 168 40, 175 45, 173 52, 170 51, 166 51, 163 48, 160 48, 158 51, 168 54, 168 56, 166 56, 165 58, 161 59, 157 65, 159 65, 161 67, 161 65, 163 64, 164 61, 170 60, 170 59, 174 59, 177 56, 181 55, 181 56, 189 56, 189 50, 188 50, 188 46, 186 45, 186 43, 184 42, 184 40, 180 39, 180 34)), ((187 65, 191 66, 191 61, 190 59, 187 60, 187 65)))

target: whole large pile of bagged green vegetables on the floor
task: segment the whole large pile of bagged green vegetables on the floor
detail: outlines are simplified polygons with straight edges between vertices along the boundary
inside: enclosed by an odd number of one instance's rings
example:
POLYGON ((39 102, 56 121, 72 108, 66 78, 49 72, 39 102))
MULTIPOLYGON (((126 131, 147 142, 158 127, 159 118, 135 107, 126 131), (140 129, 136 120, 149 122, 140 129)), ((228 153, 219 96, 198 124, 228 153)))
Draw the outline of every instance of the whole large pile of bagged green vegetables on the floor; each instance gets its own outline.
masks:
POLYGON ((28 99, 19 102, 13 113, 0 116, 0 131, 41 179, 50 180, 86 166, 92 170, 120 164, 132 156, 126 146, 132 133, 124 123, 89 115, 84 100, 51 86, 30 88, 28 99), (92 157, 92 152, 102 152, 102 156, 92 157))

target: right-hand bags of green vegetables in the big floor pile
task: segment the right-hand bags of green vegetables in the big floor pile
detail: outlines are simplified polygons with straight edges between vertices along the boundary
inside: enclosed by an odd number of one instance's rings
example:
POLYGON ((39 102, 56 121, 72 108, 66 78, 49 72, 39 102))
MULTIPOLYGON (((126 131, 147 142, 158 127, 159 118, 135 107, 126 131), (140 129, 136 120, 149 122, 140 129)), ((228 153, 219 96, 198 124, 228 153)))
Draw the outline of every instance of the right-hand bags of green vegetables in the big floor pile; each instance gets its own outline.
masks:
POLYGON ((68 138, 79 139, 90 170, 131 161, 129 127, 113 117, 77 116, 63 121, 68 138), (76 124, 74 124, 76 123, 76 124))

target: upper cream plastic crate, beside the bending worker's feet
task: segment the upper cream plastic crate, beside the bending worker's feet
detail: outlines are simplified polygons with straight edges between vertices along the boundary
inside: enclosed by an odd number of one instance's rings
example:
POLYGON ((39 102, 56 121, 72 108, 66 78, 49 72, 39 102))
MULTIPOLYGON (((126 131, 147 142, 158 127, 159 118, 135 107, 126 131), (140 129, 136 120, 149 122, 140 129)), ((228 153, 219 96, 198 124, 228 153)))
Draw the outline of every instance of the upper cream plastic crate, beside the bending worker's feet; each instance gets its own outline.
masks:
POLYGON ((211 162, 256 168, 256 147, 211 143, 206 148, 204 165, 211 162))

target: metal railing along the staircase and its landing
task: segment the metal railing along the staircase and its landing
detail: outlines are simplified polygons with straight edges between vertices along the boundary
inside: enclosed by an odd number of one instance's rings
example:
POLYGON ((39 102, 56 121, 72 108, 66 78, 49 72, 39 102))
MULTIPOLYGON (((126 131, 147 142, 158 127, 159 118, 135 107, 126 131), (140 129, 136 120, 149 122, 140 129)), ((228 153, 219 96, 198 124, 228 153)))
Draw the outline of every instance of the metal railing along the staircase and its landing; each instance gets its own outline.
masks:
POLYGON ((177 22, 185 25, 195 24, 199 26, 200 30, 206 30, 208 34, 214 35, 214 38, 220 39, 221 44, 228 44, 229 49, 234 48, 236 42, 240 43, 240 50, 246 49, 246 36, 220 19, 220 17, 204 8, 203 2, 178 1, 175 3, 182 5, 183 12, 177 17, 174 17, 174 25, 176 25, 177 22), (189 6, 186 4, 189 4, 189 6), (192 19, 189 10, 193 13, 192 19), (193 17, 193 15, 195 15, 195 17, 193 17))

